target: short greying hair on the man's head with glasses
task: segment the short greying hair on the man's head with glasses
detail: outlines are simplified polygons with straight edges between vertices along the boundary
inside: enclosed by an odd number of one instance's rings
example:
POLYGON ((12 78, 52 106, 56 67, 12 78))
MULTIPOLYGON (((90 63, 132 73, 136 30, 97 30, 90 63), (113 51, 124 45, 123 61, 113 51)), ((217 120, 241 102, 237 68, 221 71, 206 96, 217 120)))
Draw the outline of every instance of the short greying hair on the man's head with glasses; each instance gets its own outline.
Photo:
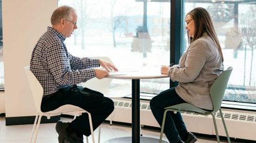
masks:
POLYGON ((58 7, 53 13, 51 17, 51 24, 59 24, 61 19, 71 19, 72 11, 75 11, 73 7, 70 6, 61 6, 58 7))

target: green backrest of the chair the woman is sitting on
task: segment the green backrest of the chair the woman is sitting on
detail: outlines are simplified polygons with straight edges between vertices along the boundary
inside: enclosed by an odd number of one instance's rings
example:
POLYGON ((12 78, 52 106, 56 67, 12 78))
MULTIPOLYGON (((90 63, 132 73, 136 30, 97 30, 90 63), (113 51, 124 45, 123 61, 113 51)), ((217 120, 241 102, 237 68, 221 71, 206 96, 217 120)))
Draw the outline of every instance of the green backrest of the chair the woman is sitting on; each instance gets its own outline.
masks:
POLYGON ((212 98, 212 103, 214 104, 214 111, 216 113, 222 104, 222 99, 224 97, 225 89, 227 83, 229 82, 229 77, 231 75, 233 68, 229 67, 227 70, 222 71, 220 76, 214 81, 210 87, 210 96, 212 98))

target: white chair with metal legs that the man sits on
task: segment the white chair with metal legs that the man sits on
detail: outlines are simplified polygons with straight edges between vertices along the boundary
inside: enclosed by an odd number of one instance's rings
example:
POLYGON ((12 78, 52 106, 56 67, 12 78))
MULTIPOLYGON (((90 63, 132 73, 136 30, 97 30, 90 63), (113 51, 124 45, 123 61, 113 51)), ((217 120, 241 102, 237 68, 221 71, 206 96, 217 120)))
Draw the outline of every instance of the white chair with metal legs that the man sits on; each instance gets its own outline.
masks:
MULTIPOLYGON (((37 80, 36 76, 34 76, 34 74, 29 70, 29 66, 24 67, 24 70, 26 72, 27 75, 27 80, 29 81, 29 86, 31 88, 31 92, 32 92, 32 96, 34 99, 34 104, 36 106, 36 110, 37 110, 37 114, 36 114, 36 119, 34 121, 34 126, 32 129, 32 133, 31 133, 31 137, 30 137, 30 141, 32 142, 34 139, 34 142, 36 142, 36 138, 37 138, 37 133, 38 133, 38 129, 39 129, 39 125, 40 125, 40 121, 42 116, 46 116, 47 119, 50 119, 51 116, 58 116, 61 114, 72 114, 74 115, 74 119, 76 118, 76 116, 80 116, 82 113, 87 113, 89 116, 89 123, 90 123, 90 128, 91 128, 91 136, 92 136, 92 142, 94 143, 94 131, 92 129, 92 118, 91 118, 91 114, 87 111, 85 111, 82 108, 79 108, 78 106, 74 106, 71 104, 66 104, 64 106, 61 106, 53 111, 49 111, 49 112, 42 112, 41 111, 41 101, 42 101, 42 95, 43 95, 43 89, 41 84, 39 83, 39 81, 37 80), (35 130, 36 129, 36 130, 35 130)), ((99 137, 100 137, 100 129, 99 129, 99 137)), ((88 139, 86 137, 86 141, 88 142, 88 139)), ((100 140, 98 140, 99 142, 100 140)))

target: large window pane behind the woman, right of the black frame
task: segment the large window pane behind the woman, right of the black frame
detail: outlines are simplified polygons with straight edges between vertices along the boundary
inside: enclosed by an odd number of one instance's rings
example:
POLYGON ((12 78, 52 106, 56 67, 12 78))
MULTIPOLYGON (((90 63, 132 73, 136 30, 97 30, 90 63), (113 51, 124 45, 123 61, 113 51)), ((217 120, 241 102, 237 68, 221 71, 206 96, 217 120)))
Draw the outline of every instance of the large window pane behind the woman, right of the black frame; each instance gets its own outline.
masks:
POLYGON ((224 53, 224 66, 234 67, 224 99, 256 103, 256 2, 187 0, 184 16, 194 7, 210 12, 224 53))

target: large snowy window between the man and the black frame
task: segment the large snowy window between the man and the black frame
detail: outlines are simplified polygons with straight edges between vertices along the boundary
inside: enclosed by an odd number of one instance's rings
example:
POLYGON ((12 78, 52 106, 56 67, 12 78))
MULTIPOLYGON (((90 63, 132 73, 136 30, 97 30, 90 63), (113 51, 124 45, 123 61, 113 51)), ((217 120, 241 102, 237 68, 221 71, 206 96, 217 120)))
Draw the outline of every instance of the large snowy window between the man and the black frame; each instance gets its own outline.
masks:
MULTIPOLYGON (((107 56, 119 69, 159 67, 170 63, 170 1, 59 0, 76 9, 77 27, 66 39, 67 50, 78 57, 107 56)), ((113 80, 112 86, 130 83, 113 80)), ((142 93, 169 88, 169 78, 140 80, 142 93)))

